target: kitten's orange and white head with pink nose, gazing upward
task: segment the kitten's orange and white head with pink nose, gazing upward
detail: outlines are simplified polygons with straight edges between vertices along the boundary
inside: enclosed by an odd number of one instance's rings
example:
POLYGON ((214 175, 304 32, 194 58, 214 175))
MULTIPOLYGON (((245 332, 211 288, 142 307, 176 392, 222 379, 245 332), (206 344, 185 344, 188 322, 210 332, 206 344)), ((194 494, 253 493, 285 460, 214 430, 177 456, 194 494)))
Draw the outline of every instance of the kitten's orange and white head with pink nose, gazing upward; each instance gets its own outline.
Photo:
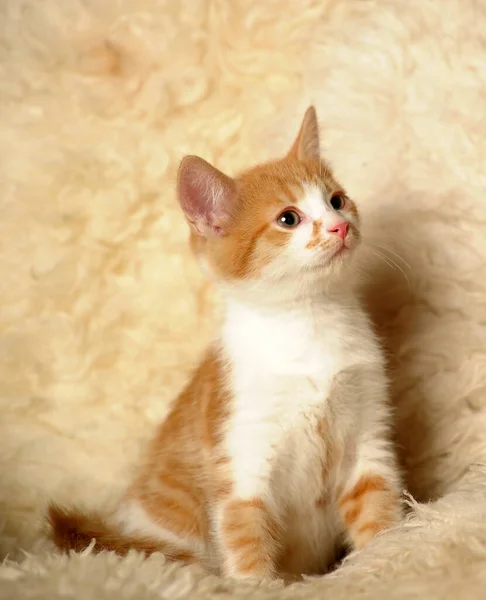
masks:
POLYGON ((225 283, 329 282, 359 241, 356 206, 320 157, 313 107, 284 158, 238 177, 186 156, 178 197, 195 253, 225 283))

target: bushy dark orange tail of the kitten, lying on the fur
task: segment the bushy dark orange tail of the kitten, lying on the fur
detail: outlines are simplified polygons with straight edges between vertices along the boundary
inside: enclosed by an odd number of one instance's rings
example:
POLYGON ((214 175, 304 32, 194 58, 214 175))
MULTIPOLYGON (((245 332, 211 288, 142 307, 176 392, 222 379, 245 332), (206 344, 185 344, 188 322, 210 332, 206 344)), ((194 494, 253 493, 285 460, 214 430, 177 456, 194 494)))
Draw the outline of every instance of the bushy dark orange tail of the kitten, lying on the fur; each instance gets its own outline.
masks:
POLYGON ((169 560, 180 560, 186 563, 196 560, 191 552, 178 549, 163 540, 124 536, 98 515, 82 513, 76 509, 67 510, 51 504, 48 522, 50 538, 63 552, 69 550, 80 552, 87 548, 94 539, 93 552, 95 553, 107 550, 123 556, 129 550, 134 549, 147 556, 154 552, 163 552, 169 560))

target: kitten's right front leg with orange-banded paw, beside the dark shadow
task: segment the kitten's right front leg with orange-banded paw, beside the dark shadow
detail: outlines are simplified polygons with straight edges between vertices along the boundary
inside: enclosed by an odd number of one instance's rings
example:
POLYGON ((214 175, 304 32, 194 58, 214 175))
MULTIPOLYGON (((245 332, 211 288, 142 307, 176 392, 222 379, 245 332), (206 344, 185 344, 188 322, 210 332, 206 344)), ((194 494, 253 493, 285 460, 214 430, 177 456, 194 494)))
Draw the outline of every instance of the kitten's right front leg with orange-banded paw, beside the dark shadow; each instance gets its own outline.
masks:
POLYGON ((338 497, 339 512, 354 548, 363 548, 377 533, 400 522, 400 491, 391 447, 380 440, 362 444, 351 477, 338 497))

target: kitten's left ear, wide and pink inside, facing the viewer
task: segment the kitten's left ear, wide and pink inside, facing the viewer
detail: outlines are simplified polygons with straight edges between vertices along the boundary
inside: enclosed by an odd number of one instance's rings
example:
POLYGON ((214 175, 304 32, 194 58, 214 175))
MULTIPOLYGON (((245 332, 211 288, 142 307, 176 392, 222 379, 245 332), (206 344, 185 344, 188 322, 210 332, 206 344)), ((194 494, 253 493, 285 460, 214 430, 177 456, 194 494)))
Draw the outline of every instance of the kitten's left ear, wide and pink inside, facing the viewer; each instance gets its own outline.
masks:
POLYGON ((236 201, 231 177, 198 156, 185 156, 179 166, 177 194, 195 233, 205 237, 224 233, 236 201))

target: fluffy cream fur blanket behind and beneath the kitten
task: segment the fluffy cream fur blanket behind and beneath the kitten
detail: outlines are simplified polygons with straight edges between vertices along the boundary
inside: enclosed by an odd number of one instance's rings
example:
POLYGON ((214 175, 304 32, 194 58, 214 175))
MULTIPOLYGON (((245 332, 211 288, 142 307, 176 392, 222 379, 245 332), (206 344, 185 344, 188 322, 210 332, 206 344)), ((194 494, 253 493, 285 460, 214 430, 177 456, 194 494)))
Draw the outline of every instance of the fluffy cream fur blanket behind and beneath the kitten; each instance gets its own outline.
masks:
POLYGON ((484 598, 486 3, 3 0, 0 22, 0 598, 484 598), (309 102, 375 244, 408 522, 288 588, 60 557, 48 500, 110 506, 211 332, 178 160, 273 156, 309 102))

